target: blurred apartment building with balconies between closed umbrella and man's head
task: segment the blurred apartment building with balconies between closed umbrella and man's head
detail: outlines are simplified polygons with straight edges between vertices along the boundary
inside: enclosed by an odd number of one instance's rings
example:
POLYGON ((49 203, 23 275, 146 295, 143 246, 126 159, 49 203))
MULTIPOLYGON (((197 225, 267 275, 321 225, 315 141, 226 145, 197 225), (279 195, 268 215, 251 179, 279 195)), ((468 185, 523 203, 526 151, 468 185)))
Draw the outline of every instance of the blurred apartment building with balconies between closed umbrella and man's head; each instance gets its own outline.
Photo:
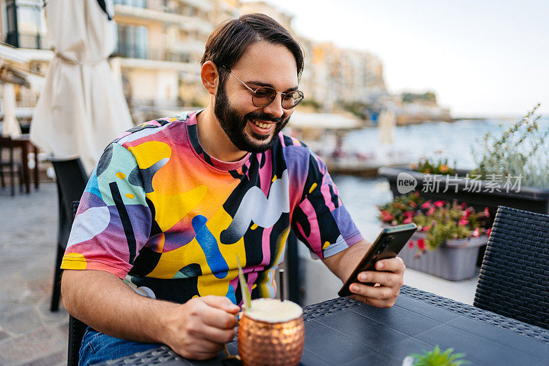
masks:
MULTIPOLYGON (((220 21, 237 16, 237 1, 114 0, 119 68, 134 119, 207 104, 200 58, 220 21)), ((136 120, 137 122, 137 120, 136 120)))

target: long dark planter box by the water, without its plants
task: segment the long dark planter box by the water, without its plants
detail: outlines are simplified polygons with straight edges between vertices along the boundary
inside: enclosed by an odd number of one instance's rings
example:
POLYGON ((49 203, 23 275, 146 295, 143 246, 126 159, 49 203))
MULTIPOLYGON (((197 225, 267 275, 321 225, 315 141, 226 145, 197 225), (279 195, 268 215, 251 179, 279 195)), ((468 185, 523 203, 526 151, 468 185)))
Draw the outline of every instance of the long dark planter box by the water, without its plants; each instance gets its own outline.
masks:
MULTIPOLYGON (((416 190, 419 194, 428 200, 452 201, 456 199, 460 202, 467 203, 467 205, 473 206, 476 210, 483 210, 484 207, 489 207, 492 218, 495 216, 495 212, 500 205, 538 212, 539 214, 549 214, 549 188, 521 186, 519 190, 515 189, 506 192, 506 187, 500 183, 494 184, 489 181, 478 181, 475 190, 470 190, 467 189, 470 181, 467 182, 467 179, 465 178, 455 179, 452 176, 452 183, 447 187, 448 182, 446 181, 446 176, 438 175, 437 181, 440 183, 436 191, 423 192, 424 187, 432 187, 428 185, 428 179, 430 178, 430 181, 432 182, 434 174, 416 172, 404 166, 395 168, 382 167, 377 170, 377 173, 379 176, 384 176, 388 179, 390 190, 395 196, 401 195, 397 187, 397 176, 401 173, 407 173, 417 181, 416 190), (426 176, 430 177, 426 178, 426 176), (494 185, 502 192, 490 192, 493 190, 494 185), (447 192, 444 192, 445 190, 447 190, 447 192), (476 192, 477 190, 479 192, 476 192)), ((467 171, 458 170, 457 173, 465 176, 467 171)))

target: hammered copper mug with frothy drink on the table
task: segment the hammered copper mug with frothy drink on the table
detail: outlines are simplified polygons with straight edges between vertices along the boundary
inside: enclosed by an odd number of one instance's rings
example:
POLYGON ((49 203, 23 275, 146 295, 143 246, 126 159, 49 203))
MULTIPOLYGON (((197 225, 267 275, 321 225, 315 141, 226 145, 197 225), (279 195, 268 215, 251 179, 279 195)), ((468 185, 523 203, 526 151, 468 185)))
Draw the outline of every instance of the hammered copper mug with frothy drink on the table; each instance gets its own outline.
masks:
MULTIPOLYGON (((278 306, 273 301, 281 303, 277 299, 255 299, 251 311, 244 310, 241 314, 237 358, 244 366, 298 365, 301 360, 305 343, 303 310, 301 306, 286 300, 283 307, 290 311, 285 314, 268 314, 268 311, 258 314, 253 311, 262 305, 278 306)), ((225 349, 230 357, 227 351, 225 349)))

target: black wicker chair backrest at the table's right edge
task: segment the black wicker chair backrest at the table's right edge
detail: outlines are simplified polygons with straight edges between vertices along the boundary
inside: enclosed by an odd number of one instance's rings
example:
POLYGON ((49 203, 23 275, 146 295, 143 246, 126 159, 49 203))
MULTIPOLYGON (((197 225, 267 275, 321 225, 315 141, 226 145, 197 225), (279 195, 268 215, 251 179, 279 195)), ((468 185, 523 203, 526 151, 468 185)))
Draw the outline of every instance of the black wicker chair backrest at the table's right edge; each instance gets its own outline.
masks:
POLYGON ((474 305, 549 329, 549 216, 498 208, 474 305))

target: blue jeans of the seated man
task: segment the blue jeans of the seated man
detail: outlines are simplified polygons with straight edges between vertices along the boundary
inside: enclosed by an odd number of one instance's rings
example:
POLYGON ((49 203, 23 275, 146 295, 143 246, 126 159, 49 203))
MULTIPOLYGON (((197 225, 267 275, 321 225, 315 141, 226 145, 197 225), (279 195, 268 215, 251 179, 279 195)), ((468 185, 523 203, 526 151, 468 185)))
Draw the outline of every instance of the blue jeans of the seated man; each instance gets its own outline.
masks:
POLYGON ((79 366, 95 365, 108 360, 129 356, 159 347, 157 343, 140 343, 113 338, 92 328, 86 328, 82 345, 80 346, 79 366))

